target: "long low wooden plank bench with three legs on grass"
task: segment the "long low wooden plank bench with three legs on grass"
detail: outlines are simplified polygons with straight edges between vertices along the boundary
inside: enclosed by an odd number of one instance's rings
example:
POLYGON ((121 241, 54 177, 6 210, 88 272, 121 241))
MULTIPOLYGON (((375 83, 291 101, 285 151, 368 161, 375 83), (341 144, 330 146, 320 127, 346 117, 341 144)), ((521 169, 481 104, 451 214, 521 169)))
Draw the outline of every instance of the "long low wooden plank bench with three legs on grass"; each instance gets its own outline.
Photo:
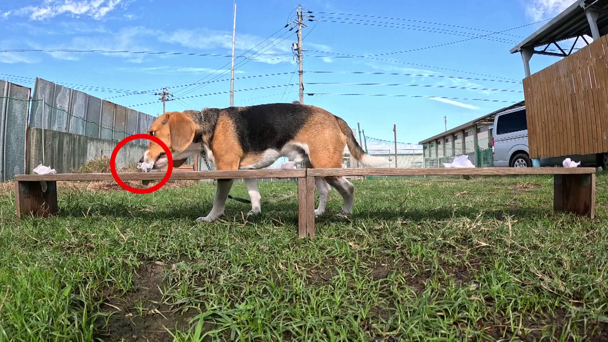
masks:
MULTIPOLYGON (((123 181, 154 180, 163 172, 119 173, 123 181)), ((595 169, 591 167, 534 167, 478 169, 273 169, 177 172, 171 180, 218 180, 254 178, 297 178, 298 231, 300 237, 314 237, 316 176, 475 176, 475 175, 553 175, 554 211, 574 212, 595 217, 595 169)), ((57 181, 114 181, 110 173, 63 173, 56 175, 18 175, 15 199, 19 218, 27 215, 49 217, 57 212, 57 181), (41 181, 46 181, 43 192, 41 181)), ((355 197, 356 198, 356 197, 355 197)), ((355 199, 356 200, 356 199, 355 199)))

